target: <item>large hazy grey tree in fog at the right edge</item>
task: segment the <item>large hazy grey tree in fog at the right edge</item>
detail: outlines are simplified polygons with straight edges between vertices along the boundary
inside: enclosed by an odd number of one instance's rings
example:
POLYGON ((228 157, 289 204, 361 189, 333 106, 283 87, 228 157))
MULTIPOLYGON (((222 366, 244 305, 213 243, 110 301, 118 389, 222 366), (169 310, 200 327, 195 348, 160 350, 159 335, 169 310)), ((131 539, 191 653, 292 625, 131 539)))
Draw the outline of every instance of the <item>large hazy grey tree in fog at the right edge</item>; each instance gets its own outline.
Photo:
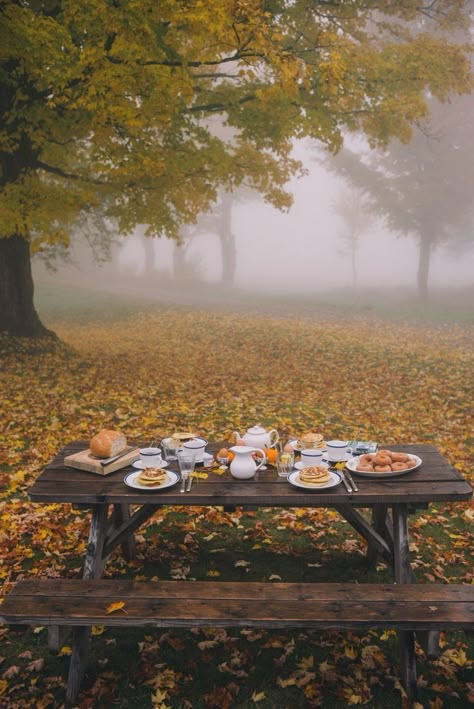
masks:
POLYGON ((408 145, 384 151, 347 148, 325 160, 351 185, 367 192, 371 210, 388 228, 418 242, 417 287, 428 297, 431 257, 442 244, 473 243, 474 96, 430 102, 431 120, 414 129, 408 145))

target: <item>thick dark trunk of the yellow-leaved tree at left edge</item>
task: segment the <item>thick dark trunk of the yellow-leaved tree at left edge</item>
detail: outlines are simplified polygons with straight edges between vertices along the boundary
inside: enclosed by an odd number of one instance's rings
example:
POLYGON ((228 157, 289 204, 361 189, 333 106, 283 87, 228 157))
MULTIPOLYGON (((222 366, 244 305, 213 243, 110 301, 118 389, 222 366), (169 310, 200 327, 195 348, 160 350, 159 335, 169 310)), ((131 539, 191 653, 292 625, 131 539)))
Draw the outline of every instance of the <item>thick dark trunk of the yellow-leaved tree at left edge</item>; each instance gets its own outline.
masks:
POLYGON ((22 236, 0 238, 0 331, 18 337, 56 337, 33 303, 30 245, 22 236))

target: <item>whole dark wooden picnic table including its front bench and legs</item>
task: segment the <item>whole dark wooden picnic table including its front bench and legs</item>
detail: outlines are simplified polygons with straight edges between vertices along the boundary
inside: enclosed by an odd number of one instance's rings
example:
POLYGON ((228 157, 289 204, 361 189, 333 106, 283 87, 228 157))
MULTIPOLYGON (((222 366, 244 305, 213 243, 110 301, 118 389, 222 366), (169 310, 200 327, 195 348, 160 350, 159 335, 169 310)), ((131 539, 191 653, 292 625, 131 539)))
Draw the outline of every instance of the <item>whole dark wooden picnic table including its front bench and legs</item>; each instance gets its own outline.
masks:
MULTIPOLYGON (((399 449, 423 459, 422 466, 399 478, 358 480, 359 492, 342 485, 307 492, 259 471, 250 481, 209 474, 190 493, 176 488, 159 493, 128 488, 118 471, 107 477, 65 468, 66 447, 30 490, 37 502, 73 502, 92 509, 83 579, 19 581, 0 607, 6 622, 73 627, 67 698, 77 698, 87 662, 90 626, 259 628, 390 628, 398 631, 402 682, 416 695, 415 634, 429 657, 436 656, 440 630, 474 629, 474 587, 416 584, 410 565, 408 518, 416 507, 472 496, 470 485, 431 446, 399 449), (128 581, 101 579, 107 556, 118 546, 132 557, 133 532, 162 505, 332 507, 368 543, 368 563, 379 555, 392 568, 395 584, 259 583, 203 581, 128 581), (130 511, 130 505, 135 511, 130 511), (369 523, 357 508, 371 508, 369 523), (110 514, 109 514, 110 511, 110 514), (107 613, 115 601, 126 613, 107 613)), ((220 447, 215 444, 215 448, 220 447)), ((396 448, 396 447, 395 447, 396 448)))

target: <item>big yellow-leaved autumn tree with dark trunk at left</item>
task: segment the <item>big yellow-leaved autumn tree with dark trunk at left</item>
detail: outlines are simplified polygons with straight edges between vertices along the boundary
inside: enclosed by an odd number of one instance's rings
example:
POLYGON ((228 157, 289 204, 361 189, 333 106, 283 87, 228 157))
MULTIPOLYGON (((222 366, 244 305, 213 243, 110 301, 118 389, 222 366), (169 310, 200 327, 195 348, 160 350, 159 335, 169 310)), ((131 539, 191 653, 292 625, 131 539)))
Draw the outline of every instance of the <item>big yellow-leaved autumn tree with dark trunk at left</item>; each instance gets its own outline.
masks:
POLYGON ((30 255, 78 215, 175 237, 221 186, 288 207, 294 138, 406 140, 425 91, 470 87, 443 34, 465 22, 460 0, 0 0, 0 329, 46 334, 30 255))

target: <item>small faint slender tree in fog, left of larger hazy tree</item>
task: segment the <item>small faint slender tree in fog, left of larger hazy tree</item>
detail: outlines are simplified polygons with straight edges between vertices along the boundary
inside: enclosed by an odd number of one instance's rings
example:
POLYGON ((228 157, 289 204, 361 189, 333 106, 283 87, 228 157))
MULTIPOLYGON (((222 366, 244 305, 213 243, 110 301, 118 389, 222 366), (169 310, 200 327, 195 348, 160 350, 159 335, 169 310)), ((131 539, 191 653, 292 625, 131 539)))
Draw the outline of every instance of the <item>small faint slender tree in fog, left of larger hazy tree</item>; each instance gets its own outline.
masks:
POLYGON ((352 287, 357 288, 357 252, 360 237, 368 230, 373 221, 369 214, 365 191, 350 187, 333 204, 334 211, 341 218, 343 226, 339 236, 344 242, 342 253, 349 253, 351 259, 352 287))

